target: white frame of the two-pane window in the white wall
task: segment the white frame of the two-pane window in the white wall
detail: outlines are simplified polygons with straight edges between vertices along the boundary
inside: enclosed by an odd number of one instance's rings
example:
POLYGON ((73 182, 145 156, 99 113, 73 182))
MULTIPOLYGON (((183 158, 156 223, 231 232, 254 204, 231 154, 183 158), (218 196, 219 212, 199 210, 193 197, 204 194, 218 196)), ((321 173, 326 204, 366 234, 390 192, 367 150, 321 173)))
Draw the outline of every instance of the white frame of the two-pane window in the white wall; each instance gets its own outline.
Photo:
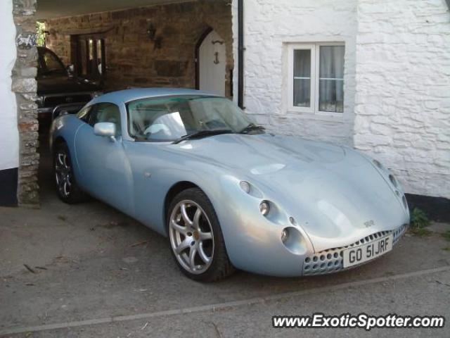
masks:
MULTIPOLYGON (((314 42, 288 44, 288 111, 299 113, 311 113, 319 115, 343 115, 343 113, 333 111, 319 111, 319 66, 321 46, 345 46, 345 42, 314 42), (311 93, 310 106, 294 106, 294 51, 308 49, 311 51, 311 93)), ((345 61, 344 61, 345 68, 345 61)), ((345 77, 344 80, 345 82, 345 77)), ((345 106, 345 96, 344 96, 345 106)))

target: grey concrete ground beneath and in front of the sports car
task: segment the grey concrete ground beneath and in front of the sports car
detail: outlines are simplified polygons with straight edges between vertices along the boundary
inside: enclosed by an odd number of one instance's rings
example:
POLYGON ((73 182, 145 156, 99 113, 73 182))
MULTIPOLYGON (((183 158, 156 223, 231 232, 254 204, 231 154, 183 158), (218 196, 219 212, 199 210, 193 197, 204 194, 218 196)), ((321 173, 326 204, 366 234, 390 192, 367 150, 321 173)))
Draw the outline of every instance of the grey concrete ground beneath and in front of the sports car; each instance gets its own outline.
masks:
POLYGON ((336 275, 238 272, 200 284, 181 275, 167 240, 98 201, 69 206, 41 168, 41 208, 0 208, 1 337, 450 337, 444 329, 274 329, 272 315, 444 315, 450 242, 401 239, 392 253, 336 275), (32 271, 28 270, 27 267, 32 271))

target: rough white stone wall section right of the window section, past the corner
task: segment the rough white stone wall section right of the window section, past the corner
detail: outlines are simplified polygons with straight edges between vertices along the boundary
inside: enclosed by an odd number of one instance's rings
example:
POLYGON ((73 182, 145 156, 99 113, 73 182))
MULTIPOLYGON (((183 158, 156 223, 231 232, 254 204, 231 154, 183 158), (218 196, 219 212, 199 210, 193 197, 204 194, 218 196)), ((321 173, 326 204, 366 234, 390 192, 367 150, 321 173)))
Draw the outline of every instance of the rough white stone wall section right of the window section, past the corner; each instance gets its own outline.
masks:
POLYGON ((445 0, 359 0, 354 146, 406 192, 450 198, 450 13, 445 0))

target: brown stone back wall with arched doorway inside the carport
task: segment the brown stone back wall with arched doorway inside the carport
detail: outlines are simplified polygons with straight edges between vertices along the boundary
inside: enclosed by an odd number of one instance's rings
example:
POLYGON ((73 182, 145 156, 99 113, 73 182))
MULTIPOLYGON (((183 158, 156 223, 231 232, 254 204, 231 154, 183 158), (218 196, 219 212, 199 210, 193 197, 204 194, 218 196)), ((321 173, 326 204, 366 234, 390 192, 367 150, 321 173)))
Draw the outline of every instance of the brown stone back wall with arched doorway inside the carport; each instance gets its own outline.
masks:
POLYGON ((70 63, 70 35, 108 30, 106 64, 108 89, 127 87, 195 87, 195 45, 208 27, 226 42, 226 94, 231 96, 233 38, 229 1, 193 1, 57 18, 46 21, 47 46, 70 63), (156 28, 160 49, 147 29, 156 28))

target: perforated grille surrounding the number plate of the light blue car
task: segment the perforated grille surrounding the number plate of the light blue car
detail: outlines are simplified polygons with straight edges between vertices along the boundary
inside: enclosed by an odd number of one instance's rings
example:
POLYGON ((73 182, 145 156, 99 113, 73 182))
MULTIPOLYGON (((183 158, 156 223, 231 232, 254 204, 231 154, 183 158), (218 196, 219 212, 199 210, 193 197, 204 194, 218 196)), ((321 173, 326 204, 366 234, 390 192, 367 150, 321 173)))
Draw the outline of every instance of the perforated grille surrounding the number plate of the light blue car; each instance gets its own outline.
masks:
POLYGON ((395 230, 375 232, 375 234, 370 234, 367 237, 361 238, 353 244, 342 246, 340 248, 323 250, 319 253, 308 256, 307 258, 304 258, 303 275, 323 275, 326 273, 335 273, 337 271, 344 270, 342 257, 344 256, 343 252, 345 249, 351 248, 352 246, 371 243, 375 241, 375 239, 385 237, 388 234, 394 235, 394 242, 392 245, 395 245, 399 242, 400 237, 405 233, 406 229, 408 229, 408 225, 404 224, 395 230))

